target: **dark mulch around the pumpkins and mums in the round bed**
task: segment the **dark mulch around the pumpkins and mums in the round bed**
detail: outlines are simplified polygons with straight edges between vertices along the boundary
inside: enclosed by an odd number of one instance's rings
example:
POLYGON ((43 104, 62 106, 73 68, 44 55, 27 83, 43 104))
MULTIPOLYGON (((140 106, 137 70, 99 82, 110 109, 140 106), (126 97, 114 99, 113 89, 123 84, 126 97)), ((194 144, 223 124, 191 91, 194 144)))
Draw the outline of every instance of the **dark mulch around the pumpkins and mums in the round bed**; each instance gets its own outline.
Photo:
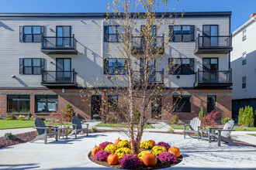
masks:
MULTIPOLYGON (((143 151, 143 150, 145 151, 144 148, 140 148, 140 149, 141 149, 141 151, 143 151)), ((146 150, 147 150, 147 149, 146 149, 146 150)), ((88 153, 88 158, 89 158, 92 162, 95 162, 95 164, 99 164, 99 165, 106 166, 106 167, 109 167, 109 168, 121 168, 121 169, 124 169, 124 168, 123 168, 121 165, 119 165, 119 164, 117 164, 117 165, 110 165, 108 162, 98 162, 98 161, 96 161, 95 158, 94 158, 94 156, 92 156, 92 151, 90 151, 90 152, 88 153)), ((175 165, 177 165, 178 163, 182 162, 182 160, 183 160, 183 157, 182 157, 182 155, 181 155, 179 158, 177 158, 177 162, 176 162, 175 164, 161 163, 161 162, 158 162, 158 161, 157 161, 157 165, 154 165, 154 167, 147 167, 146 165, 144 165, 143 162, 141 162, 140 167, 137 168, 137 169, 142 169, 142 170, 144 170, 144 169, 169 168, 169 167, 171 167, 171 166, 175 166, 175 165)))

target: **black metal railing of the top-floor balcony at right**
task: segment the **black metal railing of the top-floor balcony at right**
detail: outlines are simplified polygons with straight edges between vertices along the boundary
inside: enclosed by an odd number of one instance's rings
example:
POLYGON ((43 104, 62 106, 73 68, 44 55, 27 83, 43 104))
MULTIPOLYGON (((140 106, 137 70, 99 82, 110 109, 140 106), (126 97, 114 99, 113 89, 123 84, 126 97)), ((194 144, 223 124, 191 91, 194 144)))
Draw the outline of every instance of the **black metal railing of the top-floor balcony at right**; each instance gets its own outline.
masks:
POLYGON ((232 47, 231 36, 198 36, 196 48, 229 48, 232 47))

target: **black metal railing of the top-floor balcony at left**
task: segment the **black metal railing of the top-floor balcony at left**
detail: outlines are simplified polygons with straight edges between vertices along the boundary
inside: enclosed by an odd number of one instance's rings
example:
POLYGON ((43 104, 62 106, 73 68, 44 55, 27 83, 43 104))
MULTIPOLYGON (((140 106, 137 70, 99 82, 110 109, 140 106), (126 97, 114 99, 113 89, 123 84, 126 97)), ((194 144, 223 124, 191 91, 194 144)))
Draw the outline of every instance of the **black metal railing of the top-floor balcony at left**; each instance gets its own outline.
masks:
POLYGON ((71 37, 43 36, 42 48, 46 49, 76 49, 77 40, 71 37))

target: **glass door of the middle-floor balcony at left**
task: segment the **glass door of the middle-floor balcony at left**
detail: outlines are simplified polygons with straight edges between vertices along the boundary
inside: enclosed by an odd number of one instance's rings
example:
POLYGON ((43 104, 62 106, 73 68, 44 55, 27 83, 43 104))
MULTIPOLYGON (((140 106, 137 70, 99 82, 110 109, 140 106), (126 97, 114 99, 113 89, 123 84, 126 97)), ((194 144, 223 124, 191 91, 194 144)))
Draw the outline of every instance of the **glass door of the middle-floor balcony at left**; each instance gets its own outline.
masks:
POLYGON ((71 59, 56 59, 56 80, 71 81, 71 59))

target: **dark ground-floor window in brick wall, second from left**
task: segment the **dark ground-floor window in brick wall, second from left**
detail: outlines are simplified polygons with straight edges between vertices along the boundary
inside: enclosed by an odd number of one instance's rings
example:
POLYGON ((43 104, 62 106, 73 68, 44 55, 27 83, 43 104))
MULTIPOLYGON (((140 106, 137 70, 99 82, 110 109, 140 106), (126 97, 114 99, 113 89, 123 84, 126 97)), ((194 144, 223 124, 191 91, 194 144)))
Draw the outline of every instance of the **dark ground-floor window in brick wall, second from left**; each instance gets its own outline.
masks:
POLYGON ((40 113, 57 113, 58 111, 58 96, 57 95, 36 95, 35 96, 35 113, 36 114, 40 114, 40 113), (37 97, 37 98, 36 98, 37 97), (44 97, 44 98, 40 98, 40 97, 44 97), (51 98, 50 98, 51 97, 51 98), (56 98, 53 98, 56 97, 56 98), (37 107, 37 102, 40 100, 45 100, 45 111, 38 111, 38 107, 37 107), (49 100, 55 100, 55 102, 57 101, 56 107, 55 107, 55 111, 48 111, 48 101, 49 100))

